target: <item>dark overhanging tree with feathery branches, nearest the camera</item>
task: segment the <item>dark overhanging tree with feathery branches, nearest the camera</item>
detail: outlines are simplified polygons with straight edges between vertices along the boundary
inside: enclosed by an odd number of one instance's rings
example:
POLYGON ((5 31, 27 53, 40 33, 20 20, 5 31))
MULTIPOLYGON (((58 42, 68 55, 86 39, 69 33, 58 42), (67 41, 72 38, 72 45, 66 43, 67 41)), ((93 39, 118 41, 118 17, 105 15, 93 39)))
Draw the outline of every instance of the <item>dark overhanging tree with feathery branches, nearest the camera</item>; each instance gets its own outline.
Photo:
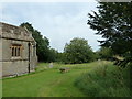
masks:
POLYGON ((97 8, 87 24, 105 38, 99 41, 101 46, 124 56, 118 61, 124 67, 132 62, 132 2, 99 2, 97 8))

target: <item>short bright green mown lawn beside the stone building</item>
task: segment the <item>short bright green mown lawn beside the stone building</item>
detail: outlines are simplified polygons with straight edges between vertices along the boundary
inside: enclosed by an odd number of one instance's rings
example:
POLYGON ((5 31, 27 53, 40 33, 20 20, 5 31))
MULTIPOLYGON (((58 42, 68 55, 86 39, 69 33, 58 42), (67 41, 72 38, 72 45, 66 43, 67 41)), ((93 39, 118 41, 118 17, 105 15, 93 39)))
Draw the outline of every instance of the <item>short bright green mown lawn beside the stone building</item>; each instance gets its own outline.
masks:
MULTIPOLYGON (((82 86, 76 81, 82 78, 82 75, 105 65, 112 66, 112 63, 105 61, 75 65, 54 63, 53 68, 48 67, 50 63, 38 63, 35 73, 3 79, 3 97, 87 97, 89 95, 84 92, 82 86), (61 67, 69 67, 70 70, 62 74, 61 67)), ((78 82, 82 84, 79 80, 78 82)))

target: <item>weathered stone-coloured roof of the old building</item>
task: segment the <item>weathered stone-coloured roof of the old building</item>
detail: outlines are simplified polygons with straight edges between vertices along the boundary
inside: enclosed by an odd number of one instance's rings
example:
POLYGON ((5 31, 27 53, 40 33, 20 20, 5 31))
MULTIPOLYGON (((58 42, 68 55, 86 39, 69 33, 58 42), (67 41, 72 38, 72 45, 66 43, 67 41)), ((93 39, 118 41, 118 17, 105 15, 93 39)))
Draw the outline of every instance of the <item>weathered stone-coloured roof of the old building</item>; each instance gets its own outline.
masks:
POLYGON ((0 22, 0 36, 2 38, 14 38, 23 41, 34 41, 32 33, 25 28, 0 22))

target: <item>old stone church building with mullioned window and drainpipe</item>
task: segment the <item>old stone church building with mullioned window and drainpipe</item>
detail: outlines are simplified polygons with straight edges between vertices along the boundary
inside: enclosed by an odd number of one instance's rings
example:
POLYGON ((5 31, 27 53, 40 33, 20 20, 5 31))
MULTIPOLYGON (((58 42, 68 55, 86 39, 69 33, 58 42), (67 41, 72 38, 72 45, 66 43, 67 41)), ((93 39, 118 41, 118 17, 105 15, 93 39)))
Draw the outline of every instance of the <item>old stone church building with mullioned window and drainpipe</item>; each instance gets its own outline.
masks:
POLYGON ((0 22, 0 69, 2 77, 34 72, 36 42, 25 28, 0 22))

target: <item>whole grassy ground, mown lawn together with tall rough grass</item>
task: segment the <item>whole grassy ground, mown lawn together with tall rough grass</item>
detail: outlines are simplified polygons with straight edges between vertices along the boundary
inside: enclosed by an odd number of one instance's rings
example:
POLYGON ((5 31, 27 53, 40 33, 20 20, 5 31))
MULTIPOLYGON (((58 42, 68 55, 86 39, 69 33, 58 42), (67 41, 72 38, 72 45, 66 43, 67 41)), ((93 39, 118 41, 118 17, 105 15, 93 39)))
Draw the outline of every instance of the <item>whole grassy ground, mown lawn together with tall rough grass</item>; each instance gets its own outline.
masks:
POLYGON ((128 97, 129 69, 101 61, 64 65, 38 63, 36 72, 2 79, 3 97, 128 97), (61 73, 61 67, 69 67, 61 73))

